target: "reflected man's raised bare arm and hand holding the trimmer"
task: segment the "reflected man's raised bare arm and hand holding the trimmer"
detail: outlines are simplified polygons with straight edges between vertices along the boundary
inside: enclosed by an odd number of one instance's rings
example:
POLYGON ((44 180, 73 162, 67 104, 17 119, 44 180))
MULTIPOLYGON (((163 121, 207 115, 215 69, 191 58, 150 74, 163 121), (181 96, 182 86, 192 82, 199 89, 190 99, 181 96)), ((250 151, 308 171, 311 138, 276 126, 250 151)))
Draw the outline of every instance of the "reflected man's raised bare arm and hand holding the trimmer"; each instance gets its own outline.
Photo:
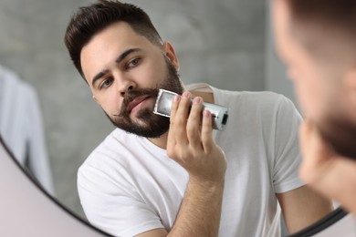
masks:
POLYGON ((189 92, 174 98, 167 141, 168 156, 189 173, 180 211, 171 232, 156 229, 140 237, 217 236, 225 183, 225 154, 212 136, 212 115, 203 99, 189 92), (189 116, 188 116, 189 115, 189 116), (203 118, 202 118, 203 117, 203 118))

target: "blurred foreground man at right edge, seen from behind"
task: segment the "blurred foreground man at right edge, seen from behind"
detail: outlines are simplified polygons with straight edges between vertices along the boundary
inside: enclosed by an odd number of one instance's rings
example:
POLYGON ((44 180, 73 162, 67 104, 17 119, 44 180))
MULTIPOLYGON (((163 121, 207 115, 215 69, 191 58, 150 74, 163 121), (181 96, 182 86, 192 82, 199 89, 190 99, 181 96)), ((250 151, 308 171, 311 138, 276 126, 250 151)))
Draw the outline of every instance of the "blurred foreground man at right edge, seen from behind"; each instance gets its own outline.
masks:
POLYGON ((356 214, 356 1, 274 0, 273 11, 306 118, 300 176, 356 214))

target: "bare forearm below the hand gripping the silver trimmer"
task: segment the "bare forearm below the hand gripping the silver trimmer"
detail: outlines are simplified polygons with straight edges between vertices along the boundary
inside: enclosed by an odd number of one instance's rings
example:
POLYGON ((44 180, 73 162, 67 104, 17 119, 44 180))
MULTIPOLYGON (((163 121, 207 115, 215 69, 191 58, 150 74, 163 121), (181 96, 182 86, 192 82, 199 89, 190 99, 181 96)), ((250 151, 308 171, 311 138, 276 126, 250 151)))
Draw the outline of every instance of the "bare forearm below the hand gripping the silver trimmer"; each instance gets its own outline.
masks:
POLYGON ((168 236, 217 236, 223 192, 224 180, 189 180, 181 209, 168 236))

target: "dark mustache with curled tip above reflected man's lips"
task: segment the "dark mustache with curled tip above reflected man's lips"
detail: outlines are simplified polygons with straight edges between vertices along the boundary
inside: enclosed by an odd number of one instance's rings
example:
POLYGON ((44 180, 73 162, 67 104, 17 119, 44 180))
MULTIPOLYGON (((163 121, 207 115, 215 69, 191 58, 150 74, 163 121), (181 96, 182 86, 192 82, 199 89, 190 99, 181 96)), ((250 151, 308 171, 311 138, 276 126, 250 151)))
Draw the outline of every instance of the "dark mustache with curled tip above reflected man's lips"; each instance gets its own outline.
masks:
POLYGON ((135 99, 140 97, 147 98, 157 98, 159 92, 159 88, 141 88, 141 89, 131 89, 125 93, 125 96, 122 101, 122 106, 119 114, 113 114, 113 116, 124 117, 129 114, 128 106, 135 99))

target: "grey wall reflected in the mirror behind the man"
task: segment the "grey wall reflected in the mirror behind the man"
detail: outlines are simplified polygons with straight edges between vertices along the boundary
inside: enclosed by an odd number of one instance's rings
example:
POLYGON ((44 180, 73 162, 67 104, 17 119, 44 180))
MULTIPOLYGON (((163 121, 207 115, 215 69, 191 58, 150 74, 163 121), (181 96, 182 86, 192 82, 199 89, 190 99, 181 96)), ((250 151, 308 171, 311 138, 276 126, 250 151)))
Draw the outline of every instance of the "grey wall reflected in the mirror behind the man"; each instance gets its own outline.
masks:
MULTIPOLYGON (((113 128, 72 66, 63 36, 74 10, 92 2, 0 3, 0 64, 36 89, 54 198, 83 220, 77 170, 113 128)), ((266 1, 127 2, 145 9, 161 36, 171 40, 185 84, 204 81, 231 90, 272 90, 294 101, 271 49, 266 1)))

